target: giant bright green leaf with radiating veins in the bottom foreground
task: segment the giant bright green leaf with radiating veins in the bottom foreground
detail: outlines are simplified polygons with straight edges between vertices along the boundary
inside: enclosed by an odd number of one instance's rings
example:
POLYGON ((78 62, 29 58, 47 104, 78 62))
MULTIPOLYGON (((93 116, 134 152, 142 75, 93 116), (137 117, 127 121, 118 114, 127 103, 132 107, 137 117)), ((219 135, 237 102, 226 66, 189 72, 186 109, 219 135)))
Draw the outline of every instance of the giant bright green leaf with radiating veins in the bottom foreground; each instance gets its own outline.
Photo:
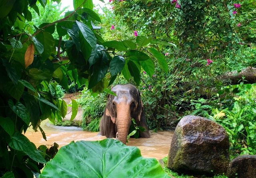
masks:
POLYGON ((60 148, 40 178, 170 178, 155 158, 114 139, 78 141, 60 148))

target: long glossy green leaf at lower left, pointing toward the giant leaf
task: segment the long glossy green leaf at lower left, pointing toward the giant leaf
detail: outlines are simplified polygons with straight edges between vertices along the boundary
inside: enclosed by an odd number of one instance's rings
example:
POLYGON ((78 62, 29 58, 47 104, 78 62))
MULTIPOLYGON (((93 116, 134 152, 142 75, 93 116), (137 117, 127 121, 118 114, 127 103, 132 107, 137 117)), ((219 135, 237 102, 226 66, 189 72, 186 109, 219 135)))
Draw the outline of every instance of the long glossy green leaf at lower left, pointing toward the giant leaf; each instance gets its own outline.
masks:
POLYGON ((46 164, 44 157, 36 150, 36 146, 22 135, 20 132, 14 132, 8 145, 14 150, 25 152, 32 160, 46 164))

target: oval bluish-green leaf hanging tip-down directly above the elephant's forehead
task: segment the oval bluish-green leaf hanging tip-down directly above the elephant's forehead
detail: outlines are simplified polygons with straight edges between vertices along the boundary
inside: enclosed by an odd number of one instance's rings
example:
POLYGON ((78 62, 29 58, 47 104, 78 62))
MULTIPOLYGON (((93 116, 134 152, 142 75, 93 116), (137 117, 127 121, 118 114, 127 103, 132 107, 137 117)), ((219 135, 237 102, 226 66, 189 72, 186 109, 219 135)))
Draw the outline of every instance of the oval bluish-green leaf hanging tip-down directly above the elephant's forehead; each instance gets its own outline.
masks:
POLYGON ((124 68, 124 58, 122 56, 114 56, 110 61, 109 71, 111 76, 115 76, 124 68))

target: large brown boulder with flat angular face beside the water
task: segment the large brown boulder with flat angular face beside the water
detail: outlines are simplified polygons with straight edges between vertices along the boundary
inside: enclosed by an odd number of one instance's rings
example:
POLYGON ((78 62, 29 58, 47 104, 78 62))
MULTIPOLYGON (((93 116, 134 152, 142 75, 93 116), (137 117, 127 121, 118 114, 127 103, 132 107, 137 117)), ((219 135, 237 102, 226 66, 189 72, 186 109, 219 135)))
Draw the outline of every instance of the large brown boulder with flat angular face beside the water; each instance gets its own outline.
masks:
POLYGON ((229 140, 224 128, 199 116, 184 116, 172 138, 167 167, 183 173, 226 173, 229 140))

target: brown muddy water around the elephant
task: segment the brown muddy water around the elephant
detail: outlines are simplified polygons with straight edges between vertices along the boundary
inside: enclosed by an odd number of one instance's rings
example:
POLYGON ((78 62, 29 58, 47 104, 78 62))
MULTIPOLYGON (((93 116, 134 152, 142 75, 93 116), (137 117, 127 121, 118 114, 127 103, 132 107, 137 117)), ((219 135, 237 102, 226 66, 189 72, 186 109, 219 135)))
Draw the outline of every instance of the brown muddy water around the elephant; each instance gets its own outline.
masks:
MULTIPOLYGON (((31 142, 36 146, 52 145, 54 142, 59 146, 69 144, 71 141, 78 140, 103 140, 105 136, 97 136, 98 132, 86 132, 83 130, 62 130, 56 128, 49 128, 46 126, 46 121, 41 123, 47 141, 42 138, 41 132, 32 132, 32 129, 28 129, 25 136, 29 138, 31 142)), ((172 140, 173 132, 160 131, 150 132, 151 138, 130 138, 127 143, 128 146, 137 146, 141 150, 141 154, 146 158, 162 159, 168 155, 170 149, 170 142, 172 140)), ((59 147, 59 148, 60 148, 59 147)))

